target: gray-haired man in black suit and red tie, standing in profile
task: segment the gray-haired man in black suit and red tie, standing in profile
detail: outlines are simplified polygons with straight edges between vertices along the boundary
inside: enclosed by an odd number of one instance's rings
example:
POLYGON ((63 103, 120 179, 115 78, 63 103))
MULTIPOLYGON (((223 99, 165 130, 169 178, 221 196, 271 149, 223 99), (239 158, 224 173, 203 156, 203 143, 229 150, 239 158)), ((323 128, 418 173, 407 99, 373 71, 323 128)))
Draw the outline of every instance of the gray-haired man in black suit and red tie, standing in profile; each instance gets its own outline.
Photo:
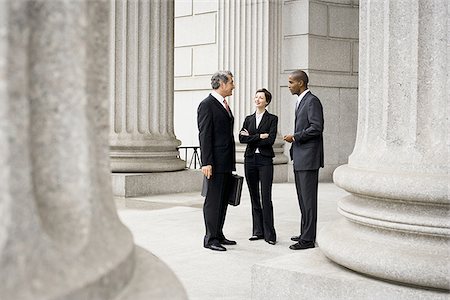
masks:
POLYGON ((203 246, 214 251, 226 251, 223 245, 236 245, 222 231, 232 171, 236 170, 234 117, 225 99, 233 94, 233 74, 230 71, 216 72, 211 77, 211 87, 213 91, 197 110, 202 172, 208 185, 203 204, 206 227, 203 246))

